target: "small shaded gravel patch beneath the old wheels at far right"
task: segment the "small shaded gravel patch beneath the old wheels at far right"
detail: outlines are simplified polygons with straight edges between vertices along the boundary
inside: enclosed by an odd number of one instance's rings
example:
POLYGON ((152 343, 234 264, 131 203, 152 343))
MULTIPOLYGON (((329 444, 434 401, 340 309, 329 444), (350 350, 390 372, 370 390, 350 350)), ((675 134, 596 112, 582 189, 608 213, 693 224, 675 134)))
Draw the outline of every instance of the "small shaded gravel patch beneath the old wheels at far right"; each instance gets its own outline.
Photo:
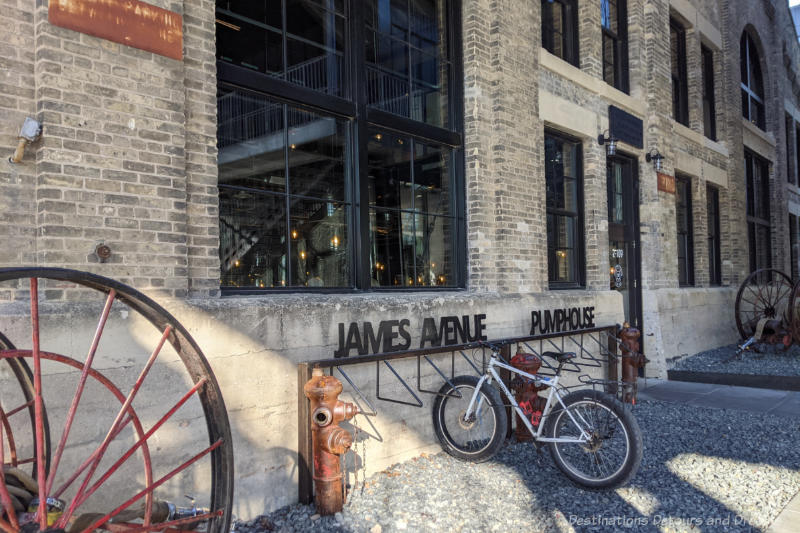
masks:
POLYGON ((800 376, 800 346, 759 345, 761 353, 746 351, 741 359, 723 362, 736 353, 736 345, 722 346, 684 357, 671 370, 722 372, 726 374, 764 374, 770 376, 800 376))

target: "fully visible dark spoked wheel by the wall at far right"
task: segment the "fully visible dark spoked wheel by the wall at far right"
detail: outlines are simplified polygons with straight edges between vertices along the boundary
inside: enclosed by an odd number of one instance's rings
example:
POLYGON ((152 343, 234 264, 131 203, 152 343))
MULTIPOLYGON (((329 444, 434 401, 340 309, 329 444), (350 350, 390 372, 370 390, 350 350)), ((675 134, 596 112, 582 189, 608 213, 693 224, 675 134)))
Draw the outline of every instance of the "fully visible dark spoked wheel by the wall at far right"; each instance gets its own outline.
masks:
POLYGON ((736 328, 742 339, 753 336, 762 318, 789 319, 792 280, 772 268, 752 272, 736 295, 736 328))

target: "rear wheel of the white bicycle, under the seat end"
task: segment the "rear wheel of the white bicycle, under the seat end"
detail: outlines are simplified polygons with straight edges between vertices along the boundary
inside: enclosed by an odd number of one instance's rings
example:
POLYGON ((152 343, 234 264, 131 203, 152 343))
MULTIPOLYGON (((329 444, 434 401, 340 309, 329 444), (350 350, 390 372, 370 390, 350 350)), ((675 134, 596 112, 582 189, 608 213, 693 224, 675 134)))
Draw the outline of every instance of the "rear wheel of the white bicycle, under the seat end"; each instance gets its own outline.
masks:
POLYGON ((614 488, 630 481, 642 462, 643 449, 642 432, 630 410, 595 391, 573 392, 564 398, 564 405, 566 409, 559 405, 547 417, 545 434, 578 439, 583 429, 591 438, 584 443, 549 443, 556 466, 590 489, 614 488))

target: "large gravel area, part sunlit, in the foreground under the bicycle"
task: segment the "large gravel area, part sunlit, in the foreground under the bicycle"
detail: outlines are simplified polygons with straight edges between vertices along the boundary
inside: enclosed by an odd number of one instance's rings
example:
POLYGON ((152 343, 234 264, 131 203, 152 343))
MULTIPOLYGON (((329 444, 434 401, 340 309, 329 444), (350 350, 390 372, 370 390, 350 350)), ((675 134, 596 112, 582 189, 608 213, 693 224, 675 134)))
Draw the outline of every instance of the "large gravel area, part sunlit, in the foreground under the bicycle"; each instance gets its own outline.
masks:
POLYGON ((797 419, 656 401, 642 401, 635 414, 644 459, 631 484, 614 491, 578 488, 546 450, 537 456, 515 444, 477 465, 444 453, 394 465, 369 477, 335 517, 298 504, 235 529, 760 531, 800 490, 797 419))

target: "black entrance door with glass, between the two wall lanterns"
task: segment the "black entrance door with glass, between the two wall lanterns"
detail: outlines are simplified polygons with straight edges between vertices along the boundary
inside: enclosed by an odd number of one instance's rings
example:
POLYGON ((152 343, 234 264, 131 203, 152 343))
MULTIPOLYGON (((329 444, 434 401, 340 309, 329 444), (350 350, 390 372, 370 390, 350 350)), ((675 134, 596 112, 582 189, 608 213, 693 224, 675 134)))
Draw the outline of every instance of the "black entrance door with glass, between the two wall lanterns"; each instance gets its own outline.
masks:
MULTIPOLYGON (((609 157, 607 171, 610 287, 622 293, 625 321, 642 331, 639 176, 636 161, 621 156, 609 157)), ((643 340, 640 340, 642 345, 643 340)))

